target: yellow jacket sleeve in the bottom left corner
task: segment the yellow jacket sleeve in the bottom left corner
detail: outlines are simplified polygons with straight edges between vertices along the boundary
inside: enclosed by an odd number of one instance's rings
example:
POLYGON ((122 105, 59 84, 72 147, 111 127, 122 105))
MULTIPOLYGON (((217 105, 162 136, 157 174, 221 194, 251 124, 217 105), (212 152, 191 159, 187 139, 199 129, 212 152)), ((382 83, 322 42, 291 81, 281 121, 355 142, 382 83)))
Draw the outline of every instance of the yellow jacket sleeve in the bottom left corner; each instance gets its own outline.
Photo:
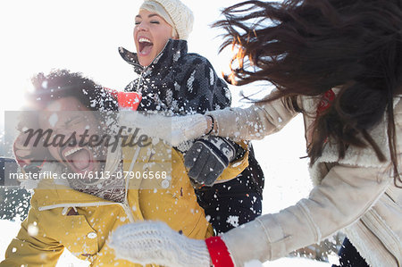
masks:
POLYGON ((46 237, 38 221, 38 210, 31 207, 17 237, 7 247, 0 266, 55 266, 63 249, 64 246, 58 241, 46 237))

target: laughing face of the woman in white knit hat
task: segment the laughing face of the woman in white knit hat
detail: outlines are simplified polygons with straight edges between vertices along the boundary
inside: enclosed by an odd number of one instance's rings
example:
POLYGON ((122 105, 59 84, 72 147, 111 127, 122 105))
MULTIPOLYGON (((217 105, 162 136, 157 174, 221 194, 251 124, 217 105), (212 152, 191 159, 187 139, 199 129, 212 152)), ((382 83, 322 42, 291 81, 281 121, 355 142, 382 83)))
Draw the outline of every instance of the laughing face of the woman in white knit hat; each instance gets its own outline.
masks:
POLYGON ((134 27, 138 61, 146 67, 161 53, 169 38, 172 38, 172 26, 156 13, 139 10, 134 27))

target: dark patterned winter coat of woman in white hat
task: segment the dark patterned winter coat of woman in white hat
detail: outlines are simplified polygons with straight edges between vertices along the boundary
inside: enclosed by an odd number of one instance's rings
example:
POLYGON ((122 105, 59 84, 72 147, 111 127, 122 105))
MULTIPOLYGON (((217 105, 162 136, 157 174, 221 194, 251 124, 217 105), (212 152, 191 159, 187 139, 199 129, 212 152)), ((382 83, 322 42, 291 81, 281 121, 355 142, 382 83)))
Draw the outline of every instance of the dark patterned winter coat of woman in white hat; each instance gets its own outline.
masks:
MULTIPOLYGON (((142 94, 138 111, 169 111, 186 115, 230 106, 231 96, 227 84, 216 75, 212 64, 205 57, 188 53, 187 41, 170 39, 147 67, 138 63, 137 54, 122 47, 119 52, 138 75, 125 88, 125 91, 142 94)), ((244 218, 239 217, 239 222, 251 221, 261 214, 264 173, 255 160, 252 147, 248 162, 247 169, 236 179, 215 184, 211 188, 204 187, 196 192, 198 203, 211 216, 210 222, 218 232, 233 227, 226 218, 239 207, 244 215, 244 218), (244 200, 245 196, 252 201, 244 200), (238 198, 239 202, 236 201, 238 198), (221 208, 217 211, 217 207, 221 208)))

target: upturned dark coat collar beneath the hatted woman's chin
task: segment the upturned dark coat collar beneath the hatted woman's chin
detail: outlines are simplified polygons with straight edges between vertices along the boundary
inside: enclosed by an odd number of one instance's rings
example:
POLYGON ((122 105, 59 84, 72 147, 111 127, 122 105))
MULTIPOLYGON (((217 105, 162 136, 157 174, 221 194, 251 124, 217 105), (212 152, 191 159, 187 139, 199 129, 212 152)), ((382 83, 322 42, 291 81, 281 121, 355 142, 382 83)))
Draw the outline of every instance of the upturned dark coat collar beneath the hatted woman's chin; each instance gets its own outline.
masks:
POLYGON ((180 56, 188 53, 188 46, 186 40, 174 40, 169 41, 164 46, 162 52, 158 54, 154 61, 147 67, 143 67, 138 62, 138 54, 130 52, 129 50, 119 47, 119 53, 122 59, 134 67, 134 71, 142 73, 144 71, 159 70, 163 66, 170 66, 176 62, 180 56))

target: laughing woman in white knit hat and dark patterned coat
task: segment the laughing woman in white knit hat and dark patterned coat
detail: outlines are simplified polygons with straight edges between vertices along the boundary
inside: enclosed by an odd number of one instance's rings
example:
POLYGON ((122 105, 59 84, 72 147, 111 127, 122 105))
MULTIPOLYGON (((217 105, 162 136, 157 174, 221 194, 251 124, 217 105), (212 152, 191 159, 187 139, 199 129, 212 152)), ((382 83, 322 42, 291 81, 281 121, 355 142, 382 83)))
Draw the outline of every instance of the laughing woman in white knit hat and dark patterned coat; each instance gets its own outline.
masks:
MULTIPOLYGON (((140 5, 133 33, 137 53, 119 49, 138 75, 125 90, 142 95, 139 111, 185 115, 230 106, 230 91, 211 63, 188 53, 193 22, 193 13, 179 0, 145 0, 140 5)), ((188 176, 207 186, 196 186, 197 200, 216 232, 233 228, 230 216, 238 217, 242 224, 261 214, 264 174, 251 146, 242 148, 227 138, 210 136, 177 148, 186 153, 191 146, 203 155, 185 154, 188 176), (232 167, 235 163, 240 164, 232 167), (226 177, 231 180, 222 183, 221 176, 221 183, 215 184, 222 171, 230 172, 226 177)))

